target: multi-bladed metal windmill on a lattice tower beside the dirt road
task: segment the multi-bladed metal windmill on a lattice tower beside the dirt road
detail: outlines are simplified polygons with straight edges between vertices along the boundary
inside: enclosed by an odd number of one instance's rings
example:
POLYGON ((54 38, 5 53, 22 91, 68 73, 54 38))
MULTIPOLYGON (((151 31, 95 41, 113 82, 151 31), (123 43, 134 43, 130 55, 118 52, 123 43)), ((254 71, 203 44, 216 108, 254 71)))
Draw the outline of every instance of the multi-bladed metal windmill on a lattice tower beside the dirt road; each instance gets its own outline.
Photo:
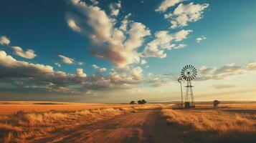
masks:
POLYGON ((191 81, 196 78, 196 68, 192 65, 186 65, 183 69, 181 69, 181 79, 186 81, 186 97, 185 97, 185 108, 194 108, 194 95, 191 85, 191 81), (189 97, 191 97, 191 101, 189 101, 189 97))

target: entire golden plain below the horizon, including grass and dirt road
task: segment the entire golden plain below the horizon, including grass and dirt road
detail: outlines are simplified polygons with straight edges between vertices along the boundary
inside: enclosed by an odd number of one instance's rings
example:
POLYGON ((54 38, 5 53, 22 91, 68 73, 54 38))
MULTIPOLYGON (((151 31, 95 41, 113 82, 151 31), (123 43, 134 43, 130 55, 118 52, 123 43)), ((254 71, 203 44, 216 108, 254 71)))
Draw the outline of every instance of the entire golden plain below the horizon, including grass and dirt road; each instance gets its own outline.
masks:
POLYGON ((14 111, 1 112, 1 142, 256 142, 254 103, 180 109, 176 104, 1 102, 1 111, 4 105, 14 111))

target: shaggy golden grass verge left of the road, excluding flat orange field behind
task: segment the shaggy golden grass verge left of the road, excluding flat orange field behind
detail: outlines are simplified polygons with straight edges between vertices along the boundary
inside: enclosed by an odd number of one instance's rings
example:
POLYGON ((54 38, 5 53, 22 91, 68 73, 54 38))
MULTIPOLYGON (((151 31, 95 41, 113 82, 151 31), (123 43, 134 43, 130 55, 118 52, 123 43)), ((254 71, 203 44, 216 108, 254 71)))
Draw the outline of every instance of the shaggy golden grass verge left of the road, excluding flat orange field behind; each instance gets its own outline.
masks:
POLYGON ((92 124, 136 109, 159 107, 158 104, 80 111, 23 112, 0 115, 0 142, 26 142, 53 132, 73 129, 80 124, 92 124))

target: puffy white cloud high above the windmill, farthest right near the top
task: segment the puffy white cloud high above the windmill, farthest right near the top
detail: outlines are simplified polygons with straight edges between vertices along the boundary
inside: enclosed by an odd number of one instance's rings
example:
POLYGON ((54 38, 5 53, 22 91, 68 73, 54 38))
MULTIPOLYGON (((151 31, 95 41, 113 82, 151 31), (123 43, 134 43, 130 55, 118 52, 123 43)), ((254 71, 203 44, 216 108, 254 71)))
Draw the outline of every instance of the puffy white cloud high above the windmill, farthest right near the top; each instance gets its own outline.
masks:
POLYGON ((171 28, 187 26, 188 22, 198 21, 202 19, 204 9, 207 9, 209 4, 179 4, 173 13, 165 14, 164 18, 169 19, 171 28))

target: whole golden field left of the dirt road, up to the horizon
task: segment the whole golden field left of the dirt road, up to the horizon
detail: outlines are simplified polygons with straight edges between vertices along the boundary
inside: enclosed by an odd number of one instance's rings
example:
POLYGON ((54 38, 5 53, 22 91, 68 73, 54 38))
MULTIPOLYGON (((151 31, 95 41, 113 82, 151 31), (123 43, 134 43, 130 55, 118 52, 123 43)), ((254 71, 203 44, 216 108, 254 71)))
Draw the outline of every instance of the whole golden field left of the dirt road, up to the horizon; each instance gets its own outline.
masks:
POLYGON ((93 124, 158 104, 69 104, 60 102, 2 102, 0 142, 25 142, 49 133, 93 124))

